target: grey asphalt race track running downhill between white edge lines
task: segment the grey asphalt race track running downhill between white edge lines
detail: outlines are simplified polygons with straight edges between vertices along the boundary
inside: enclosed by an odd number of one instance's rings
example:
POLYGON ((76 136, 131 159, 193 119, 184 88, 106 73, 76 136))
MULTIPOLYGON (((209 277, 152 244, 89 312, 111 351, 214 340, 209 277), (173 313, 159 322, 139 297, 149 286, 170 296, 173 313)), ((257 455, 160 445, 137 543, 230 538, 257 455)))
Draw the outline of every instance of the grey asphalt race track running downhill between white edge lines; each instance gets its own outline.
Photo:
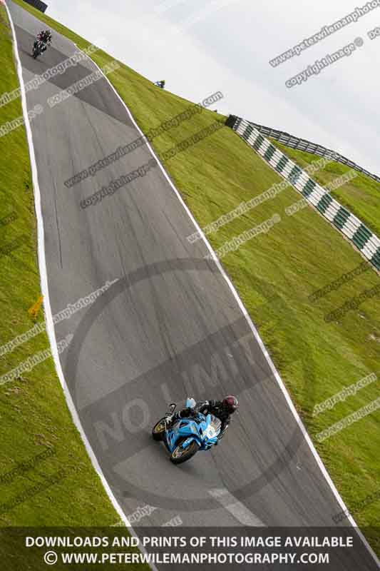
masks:
MULTIPOLYGON (((46 26, 7 4, 24 82, 76 51, 53 31, 51 49, 32 59, 33 39, 46 26)), ((115 281, 91 306, 56 325, 57 340, 73 334, 61 353, 63 371, 115 497, 128 516, 146 504, 155 507, 139 525, 180 516, 184 526, 333 526, 342 507, 225 278, 205 259, 207 246, 186 239, 195 226, 159 166, 101 203, 80 206, 148 163, 148 146, 72 188, 64 185, 140 136, 106 79, 48 106, 48 97, 93 71, 89 59, 82 61, 26 98, 28 109, 43 106, 31 128, 53 314, 115 281), (225 439, 173 466, 150 437, 167 403, 225 393, 240 398, 225 439)), ((258 280, 252 287, 263 293, 263 312, 277 303, 267 284, 258 280)), ((369 552, 351 555, 351 565, 355 557, 358 569, 376 568, 369 552)), ((342 570, 348 568, 342 561, 342 570)))

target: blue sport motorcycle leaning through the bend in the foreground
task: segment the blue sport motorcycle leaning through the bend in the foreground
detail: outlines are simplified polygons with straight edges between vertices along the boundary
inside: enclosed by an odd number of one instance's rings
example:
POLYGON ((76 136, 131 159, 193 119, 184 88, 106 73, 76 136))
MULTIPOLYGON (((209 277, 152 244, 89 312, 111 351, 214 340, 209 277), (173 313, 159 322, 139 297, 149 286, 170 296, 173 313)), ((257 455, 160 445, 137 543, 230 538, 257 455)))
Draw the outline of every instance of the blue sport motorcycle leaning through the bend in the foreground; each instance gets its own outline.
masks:
POLYGON ((170 419, 176 408, 172 403, 168 413, 155 423, 152 430, 154 440, 163 441, 170 453, 173 464, 182 464, 190 460, 198 450, 209 450, 217 443, 222 423, 213 415, 202 415, 195 410, 195 400, 188 398, 186 408, 194 408, 190 418, 180 418, 173 425, 170 419))

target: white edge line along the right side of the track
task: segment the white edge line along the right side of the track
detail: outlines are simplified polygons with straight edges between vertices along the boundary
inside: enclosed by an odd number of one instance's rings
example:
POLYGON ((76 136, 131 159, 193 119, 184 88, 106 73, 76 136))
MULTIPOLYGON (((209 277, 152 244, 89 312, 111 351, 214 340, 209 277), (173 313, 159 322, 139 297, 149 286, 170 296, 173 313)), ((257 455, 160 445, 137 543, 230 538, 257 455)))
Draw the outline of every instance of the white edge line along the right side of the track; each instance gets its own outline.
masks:
MULTIPOLYGON (((81 50, 82 51, 82 50, 81 50)), ((101 71, 101 73, 103 74, 102 69, 98 66, 98 64, 96 64, 96 61, 93 61, 92 58, 90 58, 90 56, 87 56, 88 59, 91 59, 91 61, 93 62, 93 64, 101 71)), ((305 440, 307 441, 307 444, 309 445, 310 450, 312 450, 312 454, 314 455, 314 459, 317 462, 317 465, 319 465, 320 470, 322 471, 322 474, 324 475, 325 479, 327 480, 327 483, 329 484, 329 486, 331 487, 331 490, 337 500, 337 502, 339 503, 339 505, 343 508, 343 510, 345 510, 346 512, 349 513, 349 510, 347 509, 346 505, 344 504, 344 501, 342 499, 342 497, 339 495, 339 492, 337 490, 337 488, 334 485, 334 482, 332 481, 331 477, 329 476, 329 473, 327 472, 327 469, 324 466, 324 463, 322 462, 319 454, 317 453, 317 449, 314 447, 314 444, 312 443, 312 439, 309 437, 309 434, 307 433, 306 428, 304 427, 304 423, 302 423, 301 418, 299 417, 299 414, 297 413, 297 409, 294 407, 294 404, 292 403, 292 399, 290 398, 290 395, 287 391, 287 388, 284 385, 284 382, 282 381, 282 378, 279 376, 279 373, 277 372, 274 363, 272 362, 272 358, 270 357, 269 353, 267 352, 267 349, 265 348, 264 343, 262 342, 262 338, 260 337, 260 334, 258 333, 254 323, 252 322, 252 319, 250 318, 250 315, 248 314, 247 310, 245 309, 244 304, 242 303, 242 300, 239 297, 239 294, 237 293, 237 290, 235 290, 235 286, 232 284, 232 282, 230 281, 230 278, 227 276, 227 273, 225 273, 224 268, 222 267, 219 259, 217 258, 215 252, 212 250, 212 247, 210 246, 210 243, 207 241, 207 238, 205 236, 205 234, 202 231, 202 228, 200 228, 200 226, 198 225, 197 221, 195 220, 194 216, 192 216, 192 213, 190 212, 188 206, 186 206, 185 201, 183 201, 182 196, 180 196, 179 191, 177 190, 177 188, 175 188, 173 182, 170 180, 170 176, 168 176, 168 173, 166 173, 165 169, 163 168, 163 165, 160 163, 159 158, 155 155, 155 152, 153 151, 153 148, 150 146, 150 144, 148 143, 148 139, 146 139, 143 131, 141 131, 140 127, 138 126, 138 124, 136 123, 135 119, 132 116, 132 113, 130 113, 125 101, 123 101, 123 99, 120 97, 120 95, 118 94, 118 92, 116 91, 115 87, 113 86, 113 84, 111 84, 111 81, 108 79, 108 77, 106 75, 104 75, 104 78, 106 79, 106 81, 108 81, 108 84, 110 84, 111 88, 113 89, 113 91, 115 92, 116 96, 118 97, 118 99, 120 100, 120 102, 123 104, 123 106, 125 107, 128 116, 130 117, 130 120, 133 122, 133 124, 135 125, 135 128, 137 128, 137 130, 139 131, 139 133, 141 134, 141 136, 143 136, 145 138, 146 141, 146 145, 148 146, 150 152, 152 153, 153 157, 156 159, 156 161, 158 162, 158 166, 160 167, 161 171, 163 171, 163 175, 165 176, 165 178, 167 179, 168 183, 170 184, 170 186, 173 188, 173 191, 175 191, 175 194, 178 198, 178 200, 180 201, 180 203, 182 204, 183 208, 185 208, 186 213, 188 213, 188 216, 190 218, 190 220, 192 221, 192 223, 194 224, 195 228, 197 229, 197 231, 200 233, 200 236, 202 236, 202 240, 205 242, 205 245, 207 246, 207 249, 210 251, 210 254, 212 256, 212 259, 215 261, 217 268, 220 270, 220 273, 222 274, 223 278, 225 278, 225 281, 227 282, 227 285, 230 287, 230 290, 232 291, 232 295, 234 295, 235 300, 237 301, 237 304, 239 305, 240 309, 242 310, 243 315, 245 315, 245 318, 247 319, 247 323, 248 325, 250 325, 250 328, 252 329, 252 333, 255 335, 255 338, 257 340, 257 343, 259 343, 260 348, 262 349, 262 352, 265 355, 265 358, 267 359, 267 362, 269 364, 269 367, 272 370, 272 373, 274 374, 274 377, 277 380, 277 383, 279 384, 279 387, 282 390, 282 393, 284 394, 285 399, 287 400, 287 403, 289 405, 290 410, 292 410, 292 413, 294 415, 294 418, 297 421, 297 424, 299 425, 299 428, 302 431, 302 434, 304 435, 305 440)), ((358 525, 356 525, 356 522, 354 520, 354 518, 351 515, 347 516, 347 519, 349 520, 349 522, 351 523, 352 527, 355 528, 357 534, 359 535, 361 541, 364 543, 364 545, 366 546, 366 548, 369 550, 369 552, 371 553, 372 557, 374 557, 374 560, 376 561, 376 563, 378 565, 380 565, 379 559, 377 558, 375 552, 372 550, 371 546, 369 545, 369 543, 367 542, 366 538, 364 537, 364 535, 362 534, 361 530, 359 529, 358 525)))

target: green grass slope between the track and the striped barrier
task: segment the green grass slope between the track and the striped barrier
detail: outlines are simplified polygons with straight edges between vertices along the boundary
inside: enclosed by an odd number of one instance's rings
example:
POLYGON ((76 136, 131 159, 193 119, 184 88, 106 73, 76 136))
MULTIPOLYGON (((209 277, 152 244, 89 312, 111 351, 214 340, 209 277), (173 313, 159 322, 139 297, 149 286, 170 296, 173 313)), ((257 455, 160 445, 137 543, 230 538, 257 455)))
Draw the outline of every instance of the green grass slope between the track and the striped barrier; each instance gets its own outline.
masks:
MULTIPOLYGON (((88 45, 48 16, 41 15, 21 0, 18 3, 52 29, 76 41, 78 46, 88 45)), ((100 66, 112 60, 102 51, 94 54, 93 59, 100 66)), ((143 131, 158 126, 189 105, 188 101, 156 88, 124 65, 109 79, 143 131)), ((153 146, 162 154, 175 143, 209 126, 216 118, 217 113, 203 111, 155 138, 153 146)), ((227 127, 171 158, 165 168, 200 226, 282 180, 227 127)), ((228 254, 222 263, 259 328, 346 505, 354 510, 360 526, 376 526, 379 525, 379 499, 360 511, 355 510, 358 502, 379 490, 379 411, 322 443, 315 436, 377 398, 379 383, 372 383, 317 417, 313 417, 312 410, 315 403, 369 373, 378 372, 378 299, 366 300, 338 323, 326 323, 324 315, 363 290, 379 285, 379 276, 369 269, 311 303, 310 294, 356 268, 363 259, 312 208, 286 216, 284 209, 300 198, 294 189, 287 188, 273 200, 221 228, 210 236, 210 242, 215 249, 220 248, 225 241, 257 226, 274 213, 282 217, 281 223, 271 231, 228 254)), ((380 553, 376 529, 368 530, 367 537, 380 553)))

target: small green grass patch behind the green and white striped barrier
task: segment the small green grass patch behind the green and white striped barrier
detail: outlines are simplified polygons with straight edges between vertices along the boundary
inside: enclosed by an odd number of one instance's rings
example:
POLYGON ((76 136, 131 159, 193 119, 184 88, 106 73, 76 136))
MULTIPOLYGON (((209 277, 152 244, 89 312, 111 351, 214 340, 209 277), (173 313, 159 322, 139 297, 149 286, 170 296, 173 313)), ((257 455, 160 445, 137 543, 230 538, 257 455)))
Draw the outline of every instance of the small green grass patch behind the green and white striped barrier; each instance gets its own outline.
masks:
MULTIPOLYGON (((282 145, 282 143, 272 138, 271 141, 274 146, 277 146, 301 168, 305 168, 318 158, 312 153, 305 153, 304 151, 298 151, 282 145)), ((332 162, 318 171, 318 173, 313 174, 312 178, 321 186, 326 186, 339 178, 339 176, 352 170, 349 166, 342 165, 342 163, 332 162)), ((354 170, 353 172, 356 174, 355 178, 339 186, 339 188, 329 191, 329 193, 342 206, 346 206, 349 211, 355 214, 371 231, 380 236, 380 183, 376 183, 372 178, 358 171, 354 170)))

